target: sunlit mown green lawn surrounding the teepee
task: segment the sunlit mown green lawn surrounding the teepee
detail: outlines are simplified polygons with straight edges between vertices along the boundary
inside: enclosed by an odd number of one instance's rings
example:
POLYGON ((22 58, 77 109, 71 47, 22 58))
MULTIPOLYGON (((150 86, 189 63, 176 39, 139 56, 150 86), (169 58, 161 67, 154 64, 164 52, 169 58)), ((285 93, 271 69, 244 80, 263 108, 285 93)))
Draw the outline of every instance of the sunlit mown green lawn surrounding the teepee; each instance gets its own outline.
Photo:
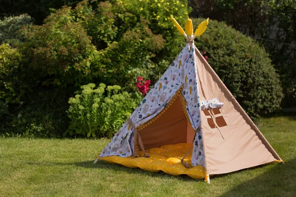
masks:
POLYGON ((147 172, 99 161, 107 140, 0 139, 0 196, 296 196, 296 116, 263 118, 260 130, 289 164, 211 177, 147 172))

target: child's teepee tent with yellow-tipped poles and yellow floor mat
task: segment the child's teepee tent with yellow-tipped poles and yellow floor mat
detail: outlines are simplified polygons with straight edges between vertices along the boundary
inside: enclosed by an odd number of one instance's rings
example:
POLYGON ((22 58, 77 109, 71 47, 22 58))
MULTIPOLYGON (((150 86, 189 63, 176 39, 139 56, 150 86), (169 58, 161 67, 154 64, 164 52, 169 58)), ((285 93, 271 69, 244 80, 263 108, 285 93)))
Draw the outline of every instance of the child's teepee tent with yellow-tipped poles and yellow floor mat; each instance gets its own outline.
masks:
POLYGON ((262 133, 174 20, 187 44, 98 159, 148 171, 205 178, 282 162, 262 133))

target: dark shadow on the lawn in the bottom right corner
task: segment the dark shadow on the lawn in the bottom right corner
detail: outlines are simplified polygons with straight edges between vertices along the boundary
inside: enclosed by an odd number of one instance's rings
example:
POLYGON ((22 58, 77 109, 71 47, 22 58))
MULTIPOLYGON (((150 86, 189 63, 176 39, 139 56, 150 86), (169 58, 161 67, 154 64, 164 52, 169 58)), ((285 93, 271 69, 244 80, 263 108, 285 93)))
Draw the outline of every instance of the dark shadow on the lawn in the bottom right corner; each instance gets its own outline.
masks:
POLYGON ((263 174, 222 194, 222 197, 237 196, 296 197, 296 159, 289 164, 275 164, 263 174))

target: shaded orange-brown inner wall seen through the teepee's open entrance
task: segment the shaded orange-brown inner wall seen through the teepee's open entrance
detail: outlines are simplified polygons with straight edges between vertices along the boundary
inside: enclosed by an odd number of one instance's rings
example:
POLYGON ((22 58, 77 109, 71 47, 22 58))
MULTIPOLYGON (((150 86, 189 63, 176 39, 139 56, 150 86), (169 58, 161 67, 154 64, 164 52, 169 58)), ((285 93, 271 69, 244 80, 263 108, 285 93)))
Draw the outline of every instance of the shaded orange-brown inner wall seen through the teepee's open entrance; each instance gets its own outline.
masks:
MULTIPOLYGON (((145 149, 187 142, 188 121, 179 97, 176 97, 176 101, 158 119, 154 120, 148 127, 139 131, 145 149)), ((138 147, 141 149, 139 145, 138 147)))

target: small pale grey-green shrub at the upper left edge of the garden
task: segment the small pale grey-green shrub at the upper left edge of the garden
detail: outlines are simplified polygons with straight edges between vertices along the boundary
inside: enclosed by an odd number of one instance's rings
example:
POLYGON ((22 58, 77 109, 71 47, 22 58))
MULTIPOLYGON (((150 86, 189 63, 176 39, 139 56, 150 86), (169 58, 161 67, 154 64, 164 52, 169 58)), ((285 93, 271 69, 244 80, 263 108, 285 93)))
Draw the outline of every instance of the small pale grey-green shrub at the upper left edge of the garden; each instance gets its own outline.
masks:
POLYGON ((19 41, 17 32, 31 22, 32 19, 27 14, 4 17, 3 20, 0 20, 0 44, 4 42, 11 44, 19 41))

